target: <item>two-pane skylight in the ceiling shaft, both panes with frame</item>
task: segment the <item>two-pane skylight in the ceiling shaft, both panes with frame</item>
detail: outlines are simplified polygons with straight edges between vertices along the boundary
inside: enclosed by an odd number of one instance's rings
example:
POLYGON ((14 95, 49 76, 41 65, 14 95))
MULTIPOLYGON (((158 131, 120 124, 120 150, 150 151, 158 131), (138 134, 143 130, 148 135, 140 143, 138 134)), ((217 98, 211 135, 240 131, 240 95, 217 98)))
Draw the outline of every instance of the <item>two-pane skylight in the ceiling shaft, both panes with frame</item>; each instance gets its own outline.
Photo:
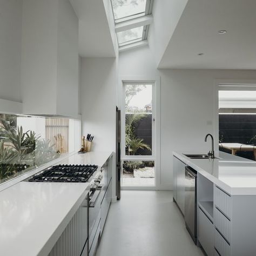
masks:
POLYGON ((153 0, 111 0, 119 48, 147 39, 153 0), (148 17, 142 21, 138 18, 148 17), (127 26, 127 22, 129 23, 127 26))

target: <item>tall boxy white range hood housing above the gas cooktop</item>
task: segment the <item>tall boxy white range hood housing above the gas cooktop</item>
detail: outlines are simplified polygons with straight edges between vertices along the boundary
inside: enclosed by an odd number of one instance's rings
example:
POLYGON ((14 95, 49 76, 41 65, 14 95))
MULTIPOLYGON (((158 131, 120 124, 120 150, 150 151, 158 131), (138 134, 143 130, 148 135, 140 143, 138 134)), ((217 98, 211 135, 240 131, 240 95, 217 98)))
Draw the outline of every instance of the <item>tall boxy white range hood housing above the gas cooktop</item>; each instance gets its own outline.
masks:
POLYGON ((78 116, 78 18, 69 0, 23 0, 23 113, 78 116))

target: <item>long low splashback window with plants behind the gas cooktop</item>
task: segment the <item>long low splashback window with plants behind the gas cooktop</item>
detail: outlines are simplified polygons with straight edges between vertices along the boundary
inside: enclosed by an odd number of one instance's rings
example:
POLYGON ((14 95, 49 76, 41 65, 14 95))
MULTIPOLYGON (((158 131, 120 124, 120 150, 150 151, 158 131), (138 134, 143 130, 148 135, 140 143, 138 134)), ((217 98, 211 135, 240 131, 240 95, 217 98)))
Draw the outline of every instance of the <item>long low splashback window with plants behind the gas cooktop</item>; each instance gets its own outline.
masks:
POLYGON ((80 121, 0 114, 0 184, 75 152, 80 121))

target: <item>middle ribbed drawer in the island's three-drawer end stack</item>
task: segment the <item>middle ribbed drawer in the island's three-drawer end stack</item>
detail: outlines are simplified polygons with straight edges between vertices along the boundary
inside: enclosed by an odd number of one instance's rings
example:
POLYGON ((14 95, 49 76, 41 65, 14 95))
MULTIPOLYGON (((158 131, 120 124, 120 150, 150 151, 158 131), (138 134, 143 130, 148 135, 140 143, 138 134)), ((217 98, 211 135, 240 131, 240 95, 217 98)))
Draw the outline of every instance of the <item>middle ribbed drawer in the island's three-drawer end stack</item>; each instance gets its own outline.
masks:
POLYGON ((214 207, 214 224, 218 228, 221 234, 228 240, 231 241, 231 221, 228 220, 216 207, 214 207))

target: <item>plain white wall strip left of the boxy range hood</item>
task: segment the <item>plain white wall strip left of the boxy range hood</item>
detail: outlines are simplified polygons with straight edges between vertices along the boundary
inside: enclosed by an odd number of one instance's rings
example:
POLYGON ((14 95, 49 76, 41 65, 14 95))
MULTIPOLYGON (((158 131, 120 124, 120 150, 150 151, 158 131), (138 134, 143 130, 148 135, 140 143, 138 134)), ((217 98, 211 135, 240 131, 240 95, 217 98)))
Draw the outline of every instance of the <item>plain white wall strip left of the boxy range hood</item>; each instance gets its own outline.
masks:
MULTIPOLYGON (((0 1, 0 98, 15 102, 22 101, 22 2, 0 1)), ((3 110, 0 104, 1 111, 3 110)))

